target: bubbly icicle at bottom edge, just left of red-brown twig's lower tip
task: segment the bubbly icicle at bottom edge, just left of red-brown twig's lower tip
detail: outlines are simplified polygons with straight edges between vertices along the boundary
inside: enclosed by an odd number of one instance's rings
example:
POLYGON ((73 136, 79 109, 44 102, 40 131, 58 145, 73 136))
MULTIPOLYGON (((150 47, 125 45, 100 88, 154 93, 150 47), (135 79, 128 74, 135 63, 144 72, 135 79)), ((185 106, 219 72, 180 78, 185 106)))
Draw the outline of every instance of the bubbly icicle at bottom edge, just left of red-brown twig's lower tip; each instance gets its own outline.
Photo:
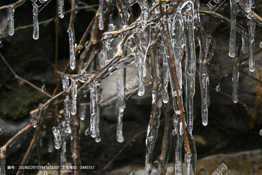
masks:
MULTIPOLYGON (((175 114, 176 115, 176 114, 175 114)), ((176 143, 176 149, 175 149, 175 173, 174 175, 183 175, 183 166, 182 166, 182 134, 180 130, 182 130, 182 122, 180 115, 177 115, 176 117, 173 117, 173 124, 175 126, 175 143, 176 143)))

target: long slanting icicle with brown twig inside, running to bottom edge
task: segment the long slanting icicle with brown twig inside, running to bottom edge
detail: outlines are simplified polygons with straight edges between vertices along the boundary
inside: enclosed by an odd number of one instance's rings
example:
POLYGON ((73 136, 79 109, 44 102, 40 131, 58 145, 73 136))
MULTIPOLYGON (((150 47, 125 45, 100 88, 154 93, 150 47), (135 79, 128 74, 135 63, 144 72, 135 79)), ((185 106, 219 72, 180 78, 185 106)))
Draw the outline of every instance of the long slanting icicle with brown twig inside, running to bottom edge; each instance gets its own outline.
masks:
POLYGON ((146 136, 146 167, 145 175, 150 175, 152 172, 152 156, 155 146, 155 141, 157 139, 158 127, 159 127, 159 117, 161 114, 162 106, 162 83, 159 77, 159 57, 158 50, 156 48, 155 57, 150 58, 151 64, 151 78, 153 81, 153 92, 152 92, 152 111, 151 118, 147 128, 146 136))

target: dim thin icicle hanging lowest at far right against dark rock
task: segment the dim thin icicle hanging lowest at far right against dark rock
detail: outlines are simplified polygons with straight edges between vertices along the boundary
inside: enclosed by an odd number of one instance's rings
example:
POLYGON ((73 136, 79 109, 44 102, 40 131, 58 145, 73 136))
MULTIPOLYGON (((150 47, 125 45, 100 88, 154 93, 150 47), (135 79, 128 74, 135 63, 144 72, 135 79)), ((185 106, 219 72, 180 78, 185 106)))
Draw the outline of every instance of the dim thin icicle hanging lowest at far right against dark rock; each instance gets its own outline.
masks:
POLYGON ((238 58, 235 57, 235 63, 233 66, 233 75, 232 75, 232 81, 233 81, 233 101, 234 103, 238 102, 238 77, 239 77, 239 71, 238 71, 238 58))

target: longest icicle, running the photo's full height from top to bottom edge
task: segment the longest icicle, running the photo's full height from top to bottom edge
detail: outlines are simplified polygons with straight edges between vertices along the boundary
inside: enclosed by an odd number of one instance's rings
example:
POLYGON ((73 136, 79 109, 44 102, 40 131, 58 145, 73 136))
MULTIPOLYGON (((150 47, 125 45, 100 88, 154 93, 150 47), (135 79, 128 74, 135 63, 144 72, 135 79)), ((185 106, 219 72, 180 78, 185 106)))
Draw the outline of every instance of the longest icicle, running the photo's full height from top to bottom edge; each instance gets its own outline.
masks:
MULTIPOLYGON (((188 136, 189 148, 192 154, 187 153, 185 145, 185 168, 187 175, 194 175, 196 172, 196 148, 194 138, 192 136, 193 130, 193 97, 195 93, 195 71, 196 71, 196 54, 195 54, 195 43, 194 43, 194 3, 189 1, 186 5, 185 17, 185 50, 186 50, 186 108, 187 108, 187 129, 184 133, 188 136)), ((184 136, 185 143, 185 136, 184 136)))

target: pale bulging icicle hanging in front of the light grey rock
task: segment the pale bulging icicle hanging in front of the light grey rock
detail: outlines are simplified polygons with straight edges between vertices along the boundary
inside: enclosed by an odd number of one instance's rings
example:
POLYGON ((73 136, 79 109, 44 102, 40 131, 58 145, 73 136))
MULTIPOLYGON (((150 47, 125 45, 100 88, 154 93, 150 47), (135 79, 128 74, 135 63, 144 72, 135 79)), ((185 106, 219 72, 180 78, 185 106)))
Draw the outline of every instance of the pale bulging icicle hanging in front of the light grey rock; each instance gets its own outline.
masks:
POLYGON ((125 95, 122 93, 122 89, 125 89, 125 69, 117 70, 117 101, 116 101, 116 114, 117 114, 117 127, 116 127, 116 139, 118 142, 123 142, 123 112, 125 109, 125 95))

